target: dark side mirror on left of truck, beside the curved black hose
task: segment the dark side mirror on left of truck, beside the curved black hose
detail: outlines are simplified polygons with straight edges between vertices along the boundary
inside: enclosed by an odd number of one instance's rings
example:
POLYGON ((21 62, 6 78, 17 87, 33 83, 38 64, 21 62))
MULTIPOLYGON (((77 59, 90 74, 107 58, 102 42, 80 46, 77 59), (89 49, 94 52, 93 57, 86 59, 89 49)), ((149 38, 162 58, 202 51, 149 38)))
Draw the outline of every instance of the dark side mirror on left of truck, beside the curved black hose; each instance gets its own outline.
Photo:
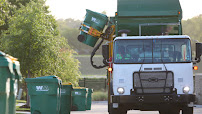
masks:
POLYGON ((109 45, 102 45, 102 56, 103 56, 103 63, 108 66, 107 61, 109 61, 109 45))

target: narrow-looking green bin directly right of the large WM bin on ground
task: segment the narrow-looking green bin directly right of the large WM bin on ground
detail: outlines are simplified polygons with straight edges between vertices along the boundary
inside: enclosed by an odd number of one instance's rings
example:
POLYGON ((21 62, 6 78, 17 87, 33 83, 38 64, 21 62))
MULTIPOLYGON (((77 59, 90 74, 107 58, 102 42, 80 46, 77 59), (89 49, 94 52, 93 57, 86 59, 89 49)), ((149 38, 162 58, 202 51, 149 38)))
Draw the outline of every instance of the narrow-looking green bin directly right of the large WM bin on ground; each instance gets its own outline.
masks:
POLYGON ((70 114, 72 89, 71 83, 62 84, 60 114, 70 114))

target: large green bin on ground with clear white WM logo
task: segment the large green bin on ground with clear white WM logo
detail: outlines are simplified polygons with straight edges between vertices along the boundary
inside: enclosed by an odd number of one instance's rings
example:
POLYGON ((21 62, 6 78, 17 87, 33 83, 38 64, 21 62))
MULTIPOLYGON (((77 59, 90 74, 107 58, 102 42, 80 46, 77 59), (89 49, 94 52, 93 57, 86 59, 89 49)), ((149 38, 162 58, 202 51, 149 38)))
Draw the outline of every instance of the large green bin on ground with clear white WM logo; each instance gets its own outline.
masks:
POLYGON ((57 76, 26 78, 32 114, 59 114, 61 80, 57 76))

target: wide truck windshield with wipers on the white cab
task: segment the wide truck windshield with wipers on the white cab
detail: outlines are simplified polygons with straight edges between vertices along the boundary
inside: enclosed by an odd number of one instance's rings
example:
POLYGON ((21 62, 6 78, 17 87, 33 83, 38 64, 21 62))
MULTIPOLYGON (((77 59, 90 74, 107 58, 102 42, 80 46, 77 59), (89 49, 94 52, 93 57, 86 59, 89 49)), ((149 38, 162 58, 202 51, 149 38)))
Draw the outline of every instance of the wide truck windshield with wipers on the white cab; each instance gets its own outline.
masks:
POLYGON ((191 62, 189 39, 116 40, 114 63, 191 62))

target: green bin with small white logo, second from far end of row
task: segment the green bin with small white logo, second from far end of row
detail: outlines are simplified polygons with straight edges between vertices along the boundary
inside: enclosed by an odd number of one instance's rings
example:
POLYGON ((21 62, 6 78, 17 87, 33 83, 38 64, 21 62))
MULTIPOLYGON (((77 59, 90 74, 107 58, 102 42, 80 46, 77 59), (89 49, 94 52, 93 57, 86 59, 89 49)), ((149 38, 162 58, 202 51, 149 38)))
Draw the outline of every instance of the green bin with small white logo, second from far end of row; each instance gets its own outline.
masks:
POLYGON ((88 88, 74 88, 72 91, 72 110, 86 111, 88 88))

